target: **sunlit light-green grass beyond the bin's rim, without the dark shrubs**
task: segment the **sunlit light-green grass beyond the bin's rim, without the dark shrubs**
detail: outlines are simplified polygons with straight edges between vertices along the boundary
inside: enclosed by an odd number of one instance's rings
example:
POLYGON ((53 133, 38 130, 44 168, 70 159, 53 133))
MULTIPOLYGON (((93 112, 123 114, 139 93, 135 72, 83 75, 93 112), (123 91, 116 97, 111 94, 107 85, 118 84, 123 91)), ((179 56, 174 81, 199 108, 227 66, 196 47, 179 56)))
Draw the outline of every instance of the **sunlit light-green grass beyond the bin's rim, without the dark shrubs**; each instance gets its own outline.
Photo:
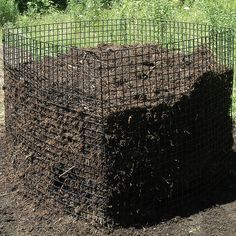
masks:
POLYGON ((50 9, 46 14, 29 11, 20 15, 18 25, 111 18, 149 18, 209 23, 236 28, 236 1, 195 0, 180 5, 176 0, 119 0, 103 8, 99 0, 71 0, 65 12, 50 9), (189 7, 189 8, 188 8, 189 7))

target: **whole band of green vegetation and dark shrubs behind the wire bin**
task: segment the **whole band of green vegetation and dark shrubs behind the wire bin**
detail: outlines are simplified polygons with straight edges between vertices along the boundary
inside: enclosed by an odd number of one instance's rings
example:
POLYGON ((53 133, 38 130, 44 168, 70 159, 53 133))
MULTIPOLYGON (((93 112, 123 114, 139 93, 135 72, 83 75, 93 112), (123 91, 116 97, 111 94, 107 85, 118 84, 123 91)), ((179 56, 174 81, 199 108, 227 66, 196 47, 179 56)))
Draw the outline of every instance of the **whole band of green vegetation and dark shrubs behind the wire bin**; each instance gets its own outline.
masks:
MULTIPOLYGON (((66 2, 59 0, 0 0, 0 25, 27 26, 111 18, 188 21, 226 26, 236 30, 236 1, 68 0, 66 2), (18 4, 18 10, 15 2, 18 4), (21 13, 18 13, 18 11, 21 13)), ((236 96, 233 100, 233 113, 236 117, 236 96)))

